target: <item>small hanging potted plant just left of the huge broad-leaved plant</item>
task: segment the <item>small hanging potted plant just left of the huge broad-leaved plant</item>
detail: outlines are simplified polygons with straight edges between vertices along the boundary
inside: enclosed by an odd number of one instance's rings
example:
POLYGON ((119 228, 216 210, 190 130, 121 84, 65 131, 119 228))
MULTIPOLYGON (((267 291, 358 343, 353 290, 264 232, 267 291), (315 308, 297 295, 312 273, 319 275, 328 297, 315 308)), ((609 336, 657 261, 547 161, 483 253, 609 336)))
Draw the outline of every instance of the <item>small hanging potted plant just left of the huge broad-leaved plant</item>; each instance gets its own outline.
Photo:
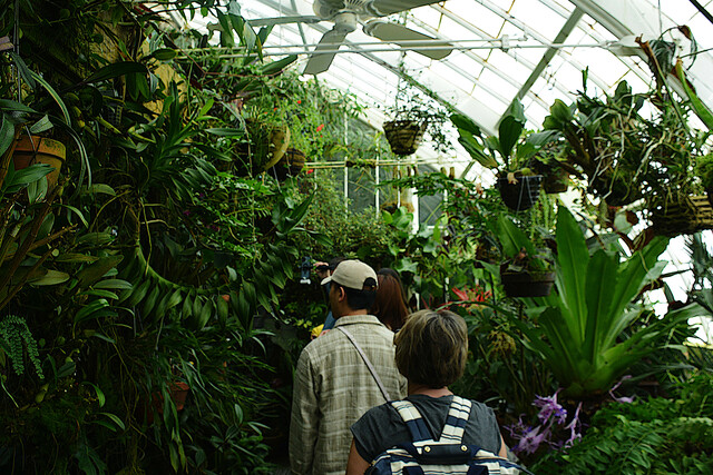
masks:
POLYGON ((498 220, 500 283, 508 297, 544 297, 555 283, 551 250, 537 247, 509 218, 498 220))

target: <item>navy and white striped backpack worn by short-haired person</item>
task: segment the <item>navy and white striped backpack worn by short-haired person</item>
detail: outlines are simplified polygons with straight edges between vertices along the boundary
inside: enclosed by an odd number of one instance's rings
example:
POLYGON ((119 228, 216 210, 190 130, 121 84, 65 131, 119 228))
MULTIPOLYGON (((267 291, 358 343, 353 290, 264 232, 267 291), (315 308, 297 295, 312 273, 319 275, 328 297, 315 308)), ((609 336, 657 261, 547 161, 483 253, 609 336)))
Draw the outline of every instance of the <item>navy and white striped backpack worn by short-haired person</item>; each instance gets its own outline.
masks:
POLYGON ((462 443, 470 400, 453 396, 441 438, 434 441, 419 410, 408 400, 394 400, 411 433, 411 443, 399 444, 379 455, 365 475, 488 475, 530 473, 476 445, 462 443))

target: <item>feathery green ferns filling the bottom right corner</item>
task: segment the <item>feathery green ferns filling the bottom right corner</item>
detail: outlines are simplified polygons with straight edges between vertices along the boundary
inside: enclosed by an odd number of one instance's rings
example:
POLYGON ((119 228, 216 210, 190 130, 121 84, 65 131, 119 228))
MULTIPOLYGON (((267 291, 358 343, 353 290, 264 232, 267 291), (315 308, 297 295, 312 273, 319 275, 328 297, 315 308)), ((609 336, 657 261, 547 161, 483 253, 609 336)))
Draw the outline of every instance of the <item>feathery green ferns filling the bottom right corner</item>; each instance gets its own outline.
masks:
POLYGON ((670 398, 599 409, 584 438, 550 453, 536 473, 704 474, 713 463, 713 390, 710 373, 682 382, 670 398))

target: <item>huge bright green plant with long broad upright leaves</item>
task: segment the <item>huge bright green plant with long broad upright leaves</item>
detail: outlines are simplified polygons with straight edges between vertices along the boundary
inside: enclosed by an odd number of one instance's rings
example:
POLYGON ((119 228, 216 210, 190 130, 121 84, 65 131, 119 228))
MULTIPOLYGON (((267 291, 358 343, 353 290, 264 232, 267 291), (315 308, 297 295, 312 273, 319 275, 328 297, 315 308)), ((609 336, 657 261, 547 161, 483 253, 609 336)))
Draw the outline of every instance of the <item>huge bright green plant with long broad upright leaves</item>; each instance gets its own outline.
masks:
POLYGON ((616 251, 589 253, 584 234, 564 207, 557 217, 556 293, 527 300, 533 324, 515 320, 524 344, 538 354, 572 397, 600 395, 634 363, 665 344, 668 330, 694 307, 642 325, 633 305, 658 277, 667 239, 655 238, 627 259, 616 251))

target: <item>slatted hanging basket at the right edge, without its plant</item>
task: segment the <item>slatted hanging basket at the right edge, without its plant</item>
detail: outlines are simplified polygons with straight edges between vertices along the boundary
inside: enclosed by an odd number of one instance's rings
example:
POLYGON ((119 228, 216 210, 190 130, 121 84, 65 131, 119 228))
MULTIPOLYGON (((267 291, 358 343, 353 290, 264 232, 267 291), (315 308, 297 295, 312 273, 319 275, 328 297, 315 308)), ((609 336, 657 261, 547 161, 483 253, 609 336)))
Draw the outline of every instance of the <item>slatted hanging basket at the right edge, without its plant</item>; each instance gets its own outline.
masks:
POLYGON ((713 229, 713 207, 706 196, 684 196, 656 205, 651 210, 651 221, 657 235, 690 235, 713 229))

